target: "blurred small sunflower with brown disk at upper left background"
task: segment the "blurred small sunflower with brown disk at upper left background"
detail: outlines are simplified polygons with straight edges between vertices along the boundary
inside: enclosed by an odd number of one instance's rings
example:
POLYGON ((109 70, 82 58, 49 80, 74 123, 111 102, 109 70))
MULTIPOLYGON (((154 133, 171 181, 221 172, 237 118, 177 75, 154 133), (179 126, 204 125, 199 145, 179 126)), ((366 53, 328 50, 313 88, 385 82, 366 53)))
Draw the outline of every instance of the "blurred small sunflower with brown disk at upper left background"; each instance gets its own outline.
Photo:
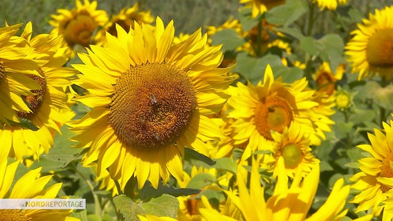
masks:
POLYGON ((84 4, 80 0, 75 0, 76 8, 71 11, 66 9, 58 9, 59 15, 51 15, 49 21, 53 26, 53 32, 64 37, 64 45, 68 45, 71 50, 75 45, 87 47, 91 44, 93 33, 97 28, 105 25, 108 21, 107 12, 97 10, 97 1, 84 0, 84 4))

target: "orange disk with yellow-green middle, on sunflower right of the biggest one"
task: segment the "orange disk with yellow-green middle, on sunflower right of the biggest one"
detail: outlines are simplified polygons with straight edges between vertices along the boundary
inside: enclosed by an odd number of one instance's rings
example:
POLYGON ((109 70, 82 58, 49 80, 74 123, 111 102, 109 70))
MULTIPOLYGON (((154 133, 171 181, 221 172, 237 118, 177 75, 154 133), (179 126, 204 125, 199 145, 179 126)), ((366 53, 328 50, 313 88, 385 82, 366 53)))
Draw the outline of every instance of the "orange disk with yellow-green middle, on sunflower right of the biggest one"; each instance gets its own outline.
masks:
POLYGON ((255 109, 255 127, 267 140, 273 140, 271 131, 282 133, 284 127, 291 124, 292 119, 292 109, 282 97, 266 97, 255 109))

